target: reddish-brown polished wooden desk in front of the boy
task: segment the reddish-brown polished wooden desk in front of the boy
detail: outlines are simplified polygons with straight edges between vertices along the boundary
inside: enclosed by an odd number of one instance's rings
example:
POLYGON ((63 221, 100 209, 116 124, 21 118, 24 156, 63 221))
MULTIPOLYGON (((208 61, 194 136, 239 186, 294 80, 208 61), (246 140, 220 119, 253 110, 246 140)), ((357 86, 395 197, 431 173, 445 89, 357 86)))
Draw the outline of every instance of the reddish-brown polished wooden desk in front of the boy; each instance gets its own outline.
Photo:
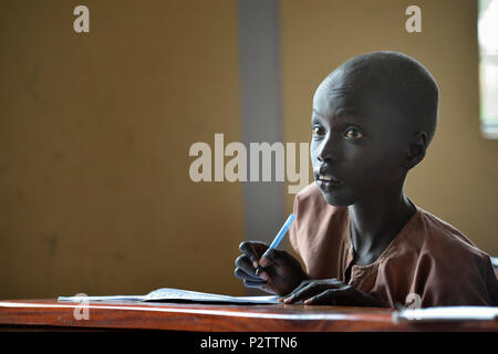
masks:
POLYGON ((77 306, 56 300, 0 301, 0 330, 498 331, 498 321, 394 323, 391 310, 364 308, 92 302, 89 319, 76 320, 77 306))

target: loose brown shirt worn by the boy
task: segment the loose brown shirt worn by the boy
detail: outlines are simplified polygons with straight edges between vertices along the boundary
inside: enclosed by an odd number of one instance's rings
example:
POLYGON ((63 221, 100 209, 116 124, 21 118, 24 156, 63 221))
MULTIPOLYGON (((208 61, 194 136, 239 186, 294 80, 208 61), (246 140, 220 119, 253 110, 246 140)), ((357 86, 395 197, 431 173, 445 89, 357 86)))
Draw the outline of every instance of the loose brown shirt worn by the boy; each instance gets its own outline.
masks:
MULTIPOLYGON (((422 306, 498 305, 498 281, 489 256, 460 231, 416 207, 391 244, 369 266, 354 264, 349 284, 395 306, 408 294, 422 306)), ((317 184, 294 199, 289 233, 312 279, 345 281, 353 261, 347 207, 333 207, 317 184)))

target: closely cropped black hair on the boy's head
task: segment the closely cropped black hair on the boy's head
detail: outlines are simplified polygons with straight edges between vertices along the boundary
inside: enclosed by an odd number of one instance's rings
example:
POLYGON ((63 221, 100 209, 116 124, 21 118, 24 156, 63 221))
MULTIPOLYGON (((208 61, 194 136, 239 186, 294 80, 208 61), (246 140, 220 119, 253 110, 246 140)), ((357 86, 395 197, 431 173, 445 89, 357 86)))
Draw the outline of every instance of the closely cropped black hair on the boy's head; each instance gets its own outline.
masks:
POLYGON ((395 107, 403 123, 408 123, 411 131, 427 134, 428 146, 438 121, 439 88, 424 65, 400 52, 380 51, 350 59, 325 82, 332 84, 338 75, 363 86, 381 84, 383 96, 395 107))

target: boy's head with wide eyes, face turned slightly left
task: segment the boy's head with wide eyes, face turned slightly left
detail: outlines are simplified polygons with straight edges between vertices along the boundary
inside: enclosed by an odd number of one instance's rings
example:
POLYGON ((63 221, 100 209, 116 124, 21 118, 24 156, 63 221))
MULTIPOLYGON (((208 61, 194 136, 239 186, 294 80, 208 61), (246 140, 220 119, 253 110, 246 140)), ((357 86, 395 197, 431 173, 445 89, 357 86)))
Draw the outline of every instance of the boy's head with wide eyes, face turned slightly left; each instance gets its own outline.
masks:
POLYGON ((429 72, 396 52, 353 58, 313 97, 311 158, 330 205, 396 192, 425 156, 437 124, 429 72))

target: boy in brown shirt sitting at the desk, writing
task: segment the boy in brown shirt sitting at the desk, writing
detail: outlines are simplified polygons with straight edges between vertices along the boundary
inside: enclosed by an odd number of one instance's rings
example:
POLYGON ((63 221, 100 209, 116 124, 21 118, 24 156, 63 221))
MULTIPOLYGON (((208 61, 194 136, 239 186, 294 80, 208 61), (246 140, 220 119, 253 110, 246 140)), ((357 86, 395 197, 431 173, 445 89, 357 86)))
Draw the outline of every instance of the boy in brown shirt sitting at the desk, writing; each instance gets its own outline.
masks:
POLYGON ((407 55, 369 53, 332 72, 313 97, 315 183, 295 196, 289 231, 307 271, 252 241, 240 244, 236 275, 286 303, 498 305, 489 256, 403 192, 437 110, 436 82, 407 55))

